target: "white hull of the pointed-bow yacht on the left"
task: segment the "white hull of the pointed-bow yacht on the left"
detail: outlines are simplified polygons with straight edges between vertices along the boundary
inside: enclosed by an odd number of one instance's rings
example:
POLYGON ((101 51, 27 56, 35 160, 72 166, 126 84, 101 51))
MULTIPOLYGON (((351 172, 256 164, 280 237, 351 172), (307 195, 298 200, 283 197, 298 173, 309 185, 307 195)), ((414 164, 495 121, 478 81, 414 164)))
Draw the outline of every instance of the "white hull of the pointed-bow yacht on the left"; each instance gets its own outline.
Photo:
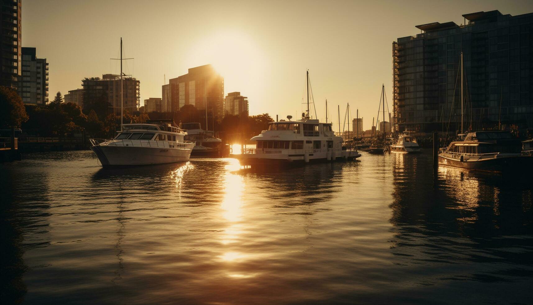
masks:
POLYGON ((188 161, 191 149, 165 147, 91 146, 103 167, 140 166, 188 161))

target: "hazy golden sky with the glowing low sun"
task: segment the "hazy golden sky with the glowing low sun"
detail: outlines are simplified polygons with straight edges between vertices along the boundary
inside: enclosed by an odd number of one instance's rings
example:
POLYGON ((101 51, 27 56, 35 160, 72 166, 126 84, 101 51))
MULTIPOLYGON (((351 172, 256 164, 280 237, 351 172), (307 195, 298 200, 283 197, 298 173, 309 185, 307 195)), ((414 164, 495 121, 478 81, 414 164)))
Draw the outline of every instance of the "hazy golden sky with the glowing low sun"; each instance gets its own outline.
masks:
MULTIPOLYGON (((84 77, 119 73, 141 81, 141 105, 166 80, 213 64, 225 93, 240 91, 250 114, 299 118, 309 69, 318 117, 341 124, 346 103, 369 129, 381 85, 392 109, 392 42, 415 25, 463 23, 462 14, 533 12, 533 1, 22 1, 22 46, 50 63, 50 98, 84 77)), ((312 106, 311 106, 312 108, 312 106)), ((314 114, 314 111, 312 112, 314 114)), ((336 124, 334 126, 337 129, 336 124)))

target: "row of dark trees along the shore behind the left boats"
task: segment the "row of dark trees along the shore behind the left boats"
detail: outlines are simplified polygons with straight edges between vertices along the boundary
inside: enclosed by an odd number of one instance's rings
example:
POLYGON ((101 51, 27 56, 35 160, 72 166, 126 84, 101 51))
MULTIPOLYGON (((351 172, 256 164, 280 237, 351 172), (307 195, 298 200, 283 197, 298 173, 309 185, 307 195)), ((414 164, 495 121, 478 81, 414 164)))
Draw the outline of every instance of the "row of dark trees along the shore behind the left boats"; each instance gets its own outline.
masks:
MULTIPOLYGON (((61 137, 86 132, 90 137, 113 137, 120 129, 120 115, 111 108, 107 97, 84 100, 83 108, 74 103, 64 103, 61 92, 46 105, 24 104, 18 93, 0 86, 0 124, 2 128, 15 126, 25 134, 41 137, 61 137)), ((154 119, 172 118, 176 124, 197 123, 205 120, 205 112, 195 106, 185 105, 173 113, 133 113, 124 111, 124 123, 144 123, 154 119)), ((273 119, 268 113, 260 115, 225 115, 221 120, 208 120, 209 129, 231 142, 249 139, 268 128, 273 119), (214 124, 214 126, 213 126, 214 124)), ((204 124, 203 124, 204 126, 204 124)), ((204 127, 205 128, 205 127, 204 127)))

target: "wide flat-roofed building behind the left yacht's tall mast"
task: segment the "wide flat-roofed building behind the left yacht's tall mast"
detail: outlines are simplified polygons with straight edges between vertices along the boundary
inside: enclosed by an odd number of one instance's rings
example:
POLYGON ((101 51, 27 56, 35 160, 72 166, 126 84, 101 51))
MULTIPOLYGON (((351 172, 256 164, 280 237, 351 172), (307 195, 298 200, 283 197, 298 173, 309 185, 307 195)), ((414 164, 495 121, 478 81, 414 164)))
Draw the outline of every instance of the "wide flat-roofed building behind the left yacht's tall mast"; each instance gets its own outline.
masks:
MULTIPOLYGON (((104 74, 101 79, 91 77, 82 82, 84 105, 105 99, 109 101, 115 113, 120 113, 120 75, 104 74)), ((141 100, 140 81, 133 77, 124 77, 123 96, 124 110, 137 111, 141 100)))

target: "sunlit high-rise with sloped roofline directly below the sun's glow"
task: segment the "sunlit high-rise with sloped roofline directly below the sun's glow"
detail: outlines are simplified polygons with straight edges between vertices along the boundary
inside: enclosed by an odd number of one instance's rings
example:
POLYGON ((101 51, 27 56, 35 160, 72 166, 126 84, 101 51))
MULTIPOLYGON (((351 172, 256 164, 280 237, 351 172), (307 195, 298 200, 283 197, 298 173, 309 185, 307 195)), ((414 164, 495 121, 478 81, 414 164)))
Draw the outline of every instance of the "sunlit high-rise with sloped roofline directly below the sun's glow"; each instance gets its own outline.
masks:
POLYGON ((224 116, 224 78, 216 73, 212 65, 190 68, 189 73, 168 82, 171 111, 193 105, 198 110, 206 110, 207 107, 215 120, 224 116))

